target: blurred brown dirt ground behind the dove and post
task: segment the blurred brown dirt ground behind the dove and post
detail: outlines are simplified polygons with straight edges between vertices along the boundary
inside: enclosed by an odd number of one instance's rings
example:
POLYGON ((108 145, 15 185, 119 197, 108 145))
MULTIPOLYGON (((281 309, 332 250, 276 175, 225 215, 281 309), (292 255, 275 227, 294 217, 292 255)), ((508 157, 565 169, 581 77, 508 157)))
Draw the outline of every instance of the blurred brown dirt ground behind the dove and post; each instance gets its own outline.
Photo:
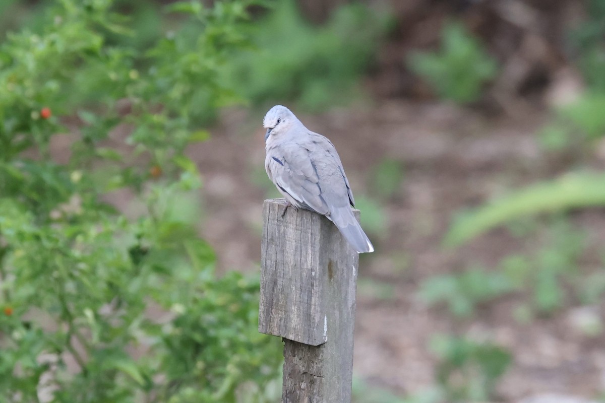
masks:
MULTIPOLYGON (((203 236, 216 248, 221 269, 258 270, 266 193, 251 178, 264 175, 263 114, 226 111, 212 139, 189 152, 204 176, 203 236)), ((523 250, 522 240, 506 230, 456 250, 444 250, 440 240, 460 208, 568 167, 552 161, 537 144, 535 131, 545 112, 488 117, 472 109, 397 100, 298 115, 333 141, 355 195, 371 192, 371 169, 384 158, 404 166, 401 189, 384 205, 388 226, 370 236, 376 252, 360 259, 360 285, 368 279, 388 283, 392 295, 381 295, 381 287, 358 286, 356 375, 402 395, 422 390, 434 379, 428 340, 446 332, 493 340, 512 350, 514 363, 499 384, 499 401, 542 392, 594 398, 605 390, 605 337, 588 337, 572 324, 582 309, 597 309, 602 319, 600 307, 570 304, 551 318, 519 323, 512 315, 515 295, 460 321, 446 309, 427 308, 417 297, 419 283, 428 276, 477 262, 489 267, 523 250)), ((592 161, 595 166, 602 162, 592 161)), ((602 211, 575 213, 573 220, 592 228, 593 241, 605 242, 599 230, 605 224, 602 211)))

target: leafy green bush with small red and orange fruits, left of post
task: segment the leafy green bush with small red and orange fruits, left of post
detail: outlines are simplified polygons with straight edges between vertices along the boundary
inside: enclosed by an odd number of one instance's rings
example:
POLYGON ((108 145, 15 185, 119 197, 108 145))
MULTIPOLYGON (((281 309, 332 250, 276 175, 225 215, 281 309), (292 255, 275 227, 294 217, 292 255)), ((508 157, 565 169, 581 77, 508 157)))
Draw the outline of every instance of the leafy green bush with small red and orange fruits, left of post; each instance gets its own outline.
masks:
POLYGON ((246 4, 174 3, 188 28, 140 50, 112 1, 60 0, 0 45, 0 400, 37 402, 45 374, 54 402, 266 401, 246 385, 278 376, 280 343, 257 332, 257 280, 215 274, 183 155, 232 99, 218 71, 246 4))

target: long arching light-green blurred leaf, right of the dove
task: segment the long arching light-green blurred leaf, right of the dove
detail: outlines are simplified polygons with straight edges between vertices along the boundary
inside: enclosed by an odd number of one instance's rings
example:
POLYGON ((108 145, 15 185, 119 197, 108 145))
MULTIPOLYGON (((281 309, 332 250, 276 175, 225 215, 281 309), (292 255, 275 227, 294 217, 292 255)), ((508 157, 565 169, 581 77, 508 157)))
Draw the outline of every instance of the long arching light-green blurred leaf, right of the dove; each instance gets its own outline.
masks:
POLYGON ((517 190, 482 207, 458 214, 445 234, 444 243, 462 245, 485 231, 530 214, 603 206, 604 181, 602 173, 569 173, 517 190))

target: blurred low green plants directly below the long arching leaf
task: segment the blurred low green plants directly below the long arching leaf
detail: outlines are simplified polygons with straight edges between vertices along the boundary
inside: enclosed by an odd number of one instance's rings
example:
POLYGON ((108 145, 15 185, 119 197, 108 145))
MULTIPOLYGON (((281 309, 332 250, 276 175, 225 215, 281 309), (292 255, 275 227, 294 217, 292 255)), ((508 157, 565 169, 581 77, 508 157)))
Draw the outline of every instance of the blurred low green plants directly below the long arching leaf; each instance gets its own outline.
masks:
POLYGON ((578 278, 578 257, 585 248, 582 233, 566 221, 556 221, 534 253, 511 254, 492 272, 471 268, 431 277, 422 283, 419 295, 430 305, 446 303, 456 317, 469 317, 477 305, 511 292, 524 292, 529 295, 529 305, 523 307, 526 313, 552 314, 570 298, 595 301, 605 292, 600 272, 591 276, 595 280, 591 284, 578 278), (573 289, 573 294, 568 289, 573 289))

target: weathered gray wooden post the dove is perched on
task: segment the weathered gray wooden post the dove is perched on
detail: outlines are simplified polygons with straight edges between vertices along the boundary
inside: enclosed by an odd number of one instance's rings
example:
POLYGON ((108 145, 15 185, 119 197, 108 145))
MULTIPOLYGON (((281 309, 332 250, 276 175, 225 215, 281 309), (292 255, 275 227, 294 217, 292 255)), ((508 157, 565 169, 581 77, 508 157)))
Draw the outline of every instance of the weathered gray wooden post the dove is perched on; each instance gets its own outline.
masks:
MULTIPOLYGON (((359 255, 324 216, 263 204, 258 331, 284 338, 282 403, 350 403, 359 255)), ((355 211, 359 219, 359 211, 355 211)))

